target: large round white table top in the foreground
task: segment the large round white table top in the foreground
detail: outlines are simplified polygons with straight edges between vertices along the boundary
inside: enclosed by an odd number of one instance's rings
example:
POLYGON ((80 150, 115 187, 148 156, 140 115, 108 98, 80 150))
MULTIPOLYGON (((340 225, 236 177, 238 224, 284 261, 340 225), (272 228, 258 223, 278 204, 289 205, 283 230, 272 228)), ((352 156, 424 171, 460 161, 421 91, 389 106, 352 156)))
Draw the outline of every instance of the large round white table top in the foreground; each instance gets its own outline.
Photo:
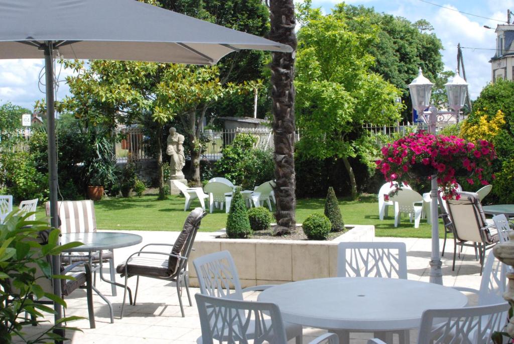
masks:
POLYGON ((439 284, 393 278, 320 278, 277 285, 259 301, 279 305, 284 321, 321 329, 417 328, 427 309, 464 307, 467 297, 439 284))

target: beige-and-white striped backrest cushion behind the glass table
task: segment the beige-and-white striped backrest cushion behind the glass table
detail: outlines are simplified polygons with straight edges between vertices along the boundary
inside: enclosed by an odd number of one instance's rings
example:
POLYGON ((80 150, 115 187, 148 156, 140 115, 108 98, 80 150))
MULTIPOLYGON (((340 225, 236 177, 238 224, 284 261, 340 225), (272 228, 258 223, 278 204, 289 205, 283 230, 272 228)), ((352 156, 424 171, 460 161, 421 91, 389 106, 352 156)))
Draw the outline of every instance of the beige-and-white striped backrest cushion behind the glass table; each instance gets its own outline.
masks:
MULTIPOLYGON (((61 232, 96 232, 93 201, 62 201, 57 204, 61 232)), ((50 202, 46 203, 46 215, 50 215, 50 202)))

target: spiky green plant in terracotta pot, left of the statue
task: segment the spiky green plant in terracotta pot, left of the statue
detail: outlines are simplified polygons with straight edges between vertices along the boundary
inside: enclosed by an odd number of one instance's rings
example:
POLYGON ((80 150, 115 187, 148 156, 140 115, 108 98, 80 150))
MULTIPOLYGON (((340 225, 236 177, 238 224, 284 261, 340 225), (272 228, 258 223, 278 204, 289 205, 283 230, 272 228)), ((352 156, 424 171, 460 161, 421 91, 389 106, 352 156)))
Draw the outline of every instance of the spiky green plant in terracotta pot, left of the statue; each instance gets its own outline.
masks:
POLYGON ((116 159, 113 154, 112 144, 102 137, 95 137, 89 159, 85 164, 88 180, 87 197, 93 201, 99 201, 104 193, 106 185, 116 183, 116 159))

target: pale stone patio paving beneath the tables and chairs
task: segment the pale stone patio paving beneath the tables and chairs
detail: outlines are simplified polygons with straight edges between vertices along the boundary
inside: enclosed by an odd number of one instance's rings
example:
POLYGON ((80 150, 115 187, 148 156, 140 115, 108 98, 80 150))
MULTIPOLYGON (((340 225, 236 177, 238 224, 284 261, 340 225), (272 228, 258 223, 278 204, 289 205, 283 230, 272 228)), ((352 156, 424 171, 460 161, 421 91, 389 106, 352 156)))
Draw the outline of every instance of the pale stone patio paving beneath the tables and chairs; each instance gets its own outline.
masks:
MULTIPOLYGON (((115 263, 121 263, 126 257, 137 251, 144 244, 152 242, 173 243, 178 236, 178 232, 160 231, 127 231, 140 234, 143 242, 137 246, 120 248, 115 250, 115 263)), ((208 233, 198 233, 200 238, 208 233)), ((376 238, 379 241, 405 242, 407 245, 407 265, 408 278, 418 281, 429 281, 429 261, 431 240, 414 238, 376 238)), ((480 286, 480 264, 474 259, 474 251, 465 247, 461 254, 461 259, 456 262, 455 271, 451 270, 453 242, 448 241, 450 248, 446 249, 443 257, 443 283, 445 286, 465 286, 479 288, 480 286)), ((442 247, 443 241, 440 241, 442 247)), ((119 275, 117 281, 121 281, 119 275)), ((136 279, 129 280, 129 286, 135 286, 136 279)), ((186 294, 182 296, 185 302, 186 317, 180 315, 180 307, 176 295, 174 283, 159 281, 150 278, 141 278, 137 304, 135 306, 125 305, 124 317, 119 318, 121 302, 123 299, 123 289, 118 288, 118 295, 111 296, 111 286, 107 283, 98 281, 97 287, 113 303, 114 323, 109 322, 109 311, 107 305, 94 294, 94 307, 96 317, 96 329, 89 329, 87 319, 74 321, 68 325, 78 327, 83 332, 69 332, 68 337, 72 343, 94 343, 94 344, 115 344, 115 343, 175 343, 191 344, 195 343, 200 336, 200 321, 194 303, 194 294, 199 292, 198 288, 191 288, 193 306, 188 306, 186 294)), ((185 292, 185 291, 184 291, 185 292)), ((248 299, 256 299, 257 293, 248 295, 248 299)), ((68 309, 66 316, 77 315, 87 317, 87 306, 85 290, 80 289, 72 293, 71 297, 66 298, 68 309)), ((471 299, 473 304, 475 300, 471 299)), ((53 317, 48 317, 52 321, 53 317)), ((35 328, 28 327, 28 331, 35 328)), ((307 343, 315 336, 324 331, 304 328, 304 343, 307 343)), ((417 339, 416 331, 411 332, 411 341, 417 339)), ((364 344, 371 334, 355 333, 351 335, 351 342, 364 344)), ((395 338, 396 340, 396 338, 395 338)), ((294 342, 292 340, 291 342, 294 342)))

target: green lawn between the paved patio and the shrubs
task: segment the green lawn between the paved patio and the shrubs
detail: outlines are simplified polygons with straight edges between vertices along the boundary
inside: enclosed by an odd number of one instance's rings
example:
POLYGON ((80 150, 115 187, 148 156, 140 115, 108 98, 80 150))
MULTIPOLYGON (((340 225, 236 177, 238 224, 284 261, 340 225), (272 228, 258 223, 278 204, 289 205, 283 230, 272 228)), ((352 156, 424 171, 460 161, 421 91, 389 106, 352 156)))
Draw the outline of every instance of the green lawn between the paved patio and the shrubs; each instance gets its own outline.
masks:
MULTIPOLYGON (((315 212, 323 213, 324 198, 307 198, 297 201, 296 220, 302 223, 315 212)), ((199 206, 193 201, 193 207, 199 206)), ((421 220, 419 228, 403 218, 400 225, 394 227, 390 216, 384 221, 378 220, 378 202, 375 196, 361 196, 358 201, 339 200, 339 206, 345 224, 374 225, 377 237, 430 238, 431 227, 426 220, 421 220)), ((168 200, 157 201, 155 195, 142 197, 112 198, 95 203, 98 229, 108 230, 181 230, 188 212, 183 211, 184 201, 181 196, 169 196, 168 200)), ((390 212, 390 215, 392 212, 390 212)), ((38 217, 44 216, 41 208, 38 217)), ((227 214, 225 210, 214 210, 201 223, 200 231, 216 231, 225 227, 227 214)), ((443 225, 439 224, 442 234, 443 225)))

